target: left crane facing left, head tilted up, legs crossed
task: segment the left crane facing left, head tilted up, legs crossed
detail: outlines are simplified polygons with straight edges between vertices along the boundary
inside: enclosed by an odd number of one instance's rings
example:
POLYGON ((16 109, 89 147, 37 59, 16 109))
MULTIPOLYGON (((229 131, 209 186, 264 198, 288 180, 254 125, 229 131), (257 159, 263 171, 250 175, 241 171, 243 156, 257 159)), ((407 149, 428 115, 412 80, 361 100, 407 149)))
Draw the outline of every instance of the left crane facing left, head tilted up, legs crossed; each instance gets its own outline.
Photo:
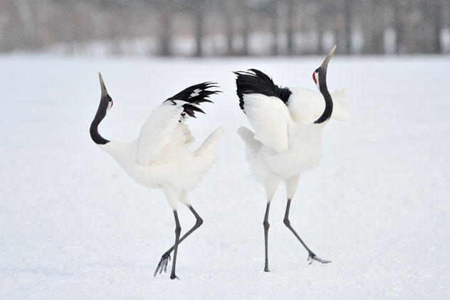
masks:
POLYGON ((194 142, 184 121, 194 117, 195 113, 204 113, 199 104, 210 102, 209 95, 219 93, 215 83, 200 83, 190 86, 165 100, 157 106, 147 121, 142 125, 140 136, 131 143, 118 143, 106 140, 98 133, 98 125, 112 108, 112 98, 108 94, 100 78, 102 95, 95 118, 90 125, 90 137, 103 150, 108 152, 135 182, 144 187, 162 189, 172 207, 175 218, 175 243, 167 250, 159 261, 155 276, 167 270, 170 254, 174 251, 170 279, 175 279, 178 245, 195 229, 202 225, 203 220, 189 202, 187 192, 192 190, 201 180, 209 167, 216 160, 216 149, 222 128, 217 128, 209 138, 194 152, 189 145, 194 142), (194 227, 181 238, 181 226, 177 214, 178 201, 186 205, 197 219, 194 227))

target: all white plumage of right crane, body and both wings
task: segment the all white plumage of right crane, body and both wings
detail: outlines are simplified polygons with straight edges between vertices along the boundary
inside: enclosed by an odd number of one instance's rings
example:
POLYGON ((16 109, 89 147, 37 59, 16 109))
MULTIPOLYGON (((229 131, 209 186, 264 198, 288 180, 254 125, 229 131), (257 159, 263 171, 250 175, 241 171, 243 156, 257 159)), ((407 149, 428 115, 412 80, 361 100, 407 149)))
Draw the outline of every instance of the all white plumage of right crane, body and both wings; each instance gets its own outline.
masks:
MULTIPOLYGON (((290 88, 287 105, 276 97, 244 94, 244 112, 255 133, 241 127, 238 133, 246 145, 246 160, 253 176, 263 184, 271 201, 278 183, 286 182, 293 197, 300 174, 317 167, 322 160, 322 133, 328 121, 315 124, 325 110, 320 92, 290 88)), ((346 89, 335 90, 331 118, 347 120, 346 89)))

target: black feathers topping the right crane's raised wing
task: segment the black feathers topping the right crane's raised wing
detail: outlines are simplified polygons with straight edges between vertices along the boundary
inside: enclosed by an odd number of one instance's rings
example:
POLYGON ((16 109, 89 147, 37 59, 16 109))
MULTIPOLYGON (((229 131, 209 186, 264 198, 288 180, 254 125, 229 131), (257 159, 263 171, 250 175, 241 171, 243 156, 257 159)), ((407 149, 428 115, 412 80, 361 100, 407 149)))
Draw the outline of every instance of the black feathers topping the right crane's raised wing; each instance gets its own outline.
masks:
POLYGON ((254 68, 250 72, 233 72, 236 78, 236 93, 239 97, 239 106, 244 110, 244 94, 263 94, 268 97, 280 98, 287 103, 292 92, 288 88, 281 88, 273 83, 273 80, 263 72, 254 68))

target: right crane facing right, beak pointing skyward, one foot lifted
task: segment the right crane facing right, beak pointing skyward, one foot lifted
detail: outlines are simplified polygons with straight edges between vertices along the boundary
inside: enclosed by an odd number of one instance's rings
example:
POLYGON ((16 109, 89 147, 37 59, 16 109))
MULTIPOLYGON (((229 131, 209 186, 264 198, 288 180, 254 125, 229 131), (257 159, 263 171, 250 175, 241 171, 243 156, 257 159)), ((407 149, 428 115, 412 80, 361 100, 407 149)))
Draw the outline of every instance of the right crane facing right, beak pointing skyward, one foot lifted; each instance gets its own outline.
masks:
POLYGON ((264 215, 265 266, 268 269, 268 212, 280 181, 286 182, 288 203, 284 224, 308 251, 308 262, 329 263, 320 259, 300 239, 289 220, 291 200, 297 190, 300 174, 317 167, 322 160, 322 132, 330 118, 347 120, 349 116, 345 89, 328 92, 327 66, 336 46, 313 73, 320 93, 301 88, 281 88, 256 69, 235 72, 239 105, 254 133, 238 129, 244 140, 246 160, 251 172, 261 182, 267 195, 264 215))

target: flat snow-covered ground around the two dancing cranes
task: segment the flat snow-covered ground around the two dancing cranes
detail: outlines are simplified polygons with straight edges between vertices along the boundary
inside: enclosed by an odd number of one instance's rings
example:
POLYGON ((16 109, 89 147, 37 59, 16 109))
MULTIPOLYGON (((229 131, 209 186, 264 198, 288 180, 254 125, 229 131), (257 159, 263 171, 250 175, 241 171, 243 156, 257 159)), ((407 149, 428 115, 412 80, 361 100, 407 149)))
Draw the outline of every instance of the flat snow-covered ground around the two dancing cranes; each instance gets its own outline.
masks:
MULTIPOLYGON (((325 128, 323 162, 302 175, 290 219, 333 262, 308 265, 283 224, 281 187, 263 272, 265 193, 236 134, 248 123, 231 71, 313 89, 322 61, 0 56, 0 299, 449 299, 448 56, 332 58, 328 86, 348 89, 350 120, 325 128), (150 110, 187 86, 224 91, 189 120, 194 146, 219 125, 226 133, 190 194, 204 224, 179 247, 179 281, 153 277, 174 242, 162 191, 90 140, 98 71, 114 100, 100 125, 110 140, 134 140, 150 110)), ((182 205, 179 217, 182 232, 195 222, 182 205)))

